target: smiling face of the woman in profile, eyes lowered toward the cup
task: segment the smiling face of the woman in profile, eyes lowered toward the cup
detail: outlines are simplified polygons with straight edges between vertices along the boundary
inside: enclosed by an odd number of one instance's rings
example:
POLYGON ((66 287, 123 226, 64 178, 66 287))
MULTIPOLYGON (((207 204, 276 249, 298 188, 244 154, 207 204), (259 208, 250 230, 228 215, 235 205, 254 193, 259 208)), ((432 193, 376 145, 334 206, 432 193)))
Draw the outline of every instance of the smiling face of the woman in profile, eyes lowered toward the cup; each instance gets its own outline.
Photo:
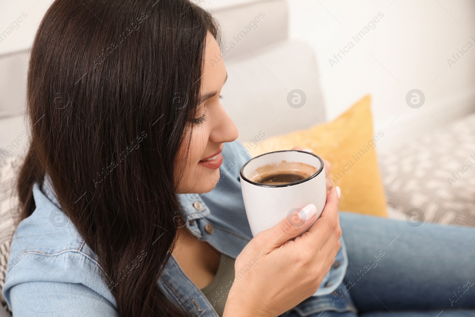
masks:
MULTIPOLYGON (((208 32, 204 73, 201 77, 200 104, 191 128, 191 143, 184 142, 178 157, 186 159, 177 193, 209 192, 219 180, 220 152, 224 142, 237 139, 237 128, 219 102, 221 88, 228 77, 216 39, 208 32)), ((186 139, 185 139, 186 140, 186 139)))

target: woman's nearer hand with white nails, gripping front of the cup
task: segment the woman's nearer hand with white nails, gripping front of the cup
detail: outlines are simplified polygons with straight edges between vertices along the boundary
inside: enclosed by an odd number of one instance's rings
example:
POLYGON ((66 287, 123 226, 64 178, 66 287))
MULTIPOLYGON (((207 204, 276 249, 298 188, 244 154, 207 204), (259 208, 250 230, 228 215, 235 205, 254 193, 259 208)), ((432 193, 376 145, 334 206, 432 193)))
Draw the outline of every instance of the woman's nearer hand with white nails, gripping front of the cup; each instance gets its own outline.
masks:
POLYGON ((235 279, 223 317, 276 317, 312 296, 340 250, 339 197, 332 189, 322 216, 302 236, 316 215, 313 204, 305 212, 305 224, 284 219, 259 232, 237 256, 235 279))

